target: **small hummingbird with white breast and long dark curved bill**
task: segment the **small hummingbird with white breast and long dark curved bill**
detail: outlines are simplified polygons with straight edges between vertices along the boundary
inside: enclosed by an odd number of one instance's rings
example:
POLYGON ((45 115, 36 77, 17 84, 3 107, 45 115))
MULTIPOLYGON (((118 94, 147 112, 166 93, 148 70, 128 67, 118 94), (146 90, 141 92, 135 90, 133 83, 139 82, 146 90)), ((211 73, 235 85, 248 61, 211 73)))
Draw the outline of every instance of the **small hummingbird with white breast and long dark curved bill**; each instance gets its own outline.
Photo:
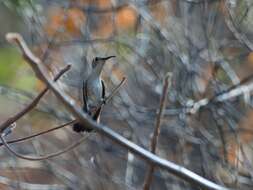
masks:
MULTIPOLYGON (((83 82, 83 111, 99 123, 102 105, 105 104, 105 84, 101 79, 101 72, 109 57, 96 57, 92 60, 92 71, 87 80, 83 82), (102 103, 102 104, 101 104, 102 103)), ((91 132, 92 129, 83 126, 80 123, 73 125, 73 130, 77 133, 91 132)))

